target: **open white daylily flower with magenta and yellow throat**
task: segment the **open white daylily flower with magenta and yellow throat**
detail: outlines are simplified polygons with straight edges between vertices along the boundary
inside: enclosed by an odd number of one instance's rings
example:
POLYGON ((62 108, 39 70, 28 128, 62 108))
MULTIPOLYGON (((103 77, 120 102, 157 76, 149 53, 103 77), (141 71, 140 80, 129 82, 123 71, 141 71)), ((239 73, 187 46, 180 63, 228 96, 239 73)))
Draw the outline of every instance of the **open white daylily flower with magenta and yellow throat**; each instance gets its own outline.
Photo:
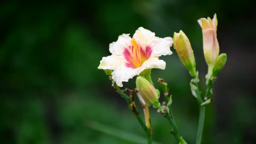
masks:
POLYGON ((158 57, 172 54, 170 47, 173 44, 171 37, 156 37, 143 27, 139 27, 133 35, 120 35, 116 42, 109 44, 111 56, 103 57, 98 69, 110 69, 112 79, 120 87, 122 82, 128 82, 135 75, 145 69, 165 69, 165 61, 158 57))

